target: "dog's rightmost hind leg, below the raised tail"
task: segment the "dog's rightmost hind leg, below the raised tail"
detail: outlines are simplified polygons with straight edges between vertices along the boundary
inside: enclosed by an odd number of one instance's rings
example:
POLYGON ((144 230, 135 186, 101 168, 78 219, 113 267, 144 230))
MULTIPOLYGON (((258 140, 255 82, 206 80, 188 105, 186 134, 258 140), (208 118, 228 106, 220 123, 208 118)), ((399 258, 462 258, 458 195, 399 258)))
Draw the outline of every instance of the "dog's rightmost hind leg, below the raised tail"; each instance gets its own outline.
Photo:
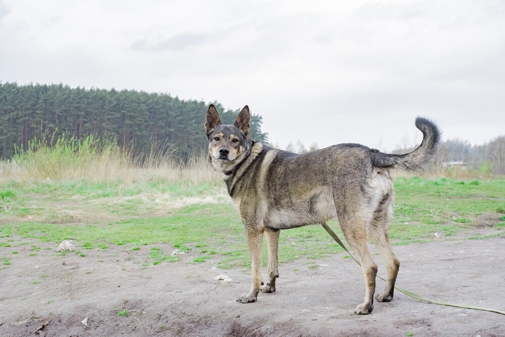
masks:
POLYGON ((387 270, 386 288, 375 296, 379 302, 390 302, 393 299, 394 283, 398 275, 400 261, 396 258, 389 243, 388 221, 391 218, 392 193, 388 193, 379 203, 370 223, 370 236, 382 255, 387 270))

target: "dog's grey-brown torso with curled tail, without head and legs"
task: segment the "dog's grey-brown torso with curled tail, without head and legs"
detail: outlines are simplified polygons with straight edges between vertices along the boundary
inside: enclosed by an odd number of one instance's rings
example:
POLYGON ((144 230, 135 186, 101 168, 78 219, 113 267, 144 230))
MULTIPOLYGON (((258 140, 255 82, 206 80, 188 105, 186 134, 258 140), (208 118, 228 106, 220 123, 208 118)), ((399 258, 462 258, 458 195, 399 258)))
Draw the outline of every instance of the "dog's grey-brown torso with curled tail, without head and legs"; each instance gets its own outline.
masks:
POLYGON ((436 155, 438 128, 420 118, 416 125, 424 140, 416 150, 403 155, 360 144, 295 154, 256 143, 239 170, 225 179, 228 191, 241 213, 251 213, 254 208, 257 220, 272 229, 321 223, 337 214, 343 218, 352 205, 370 216, 379 203, 385 206, 384 196, 391 196, 392 201, 391 168, 419 170, 436 155), (251 198, 261 200, 261 206, 251 203, 251 198), (246 202, 242 204, 242 200, 246 202))

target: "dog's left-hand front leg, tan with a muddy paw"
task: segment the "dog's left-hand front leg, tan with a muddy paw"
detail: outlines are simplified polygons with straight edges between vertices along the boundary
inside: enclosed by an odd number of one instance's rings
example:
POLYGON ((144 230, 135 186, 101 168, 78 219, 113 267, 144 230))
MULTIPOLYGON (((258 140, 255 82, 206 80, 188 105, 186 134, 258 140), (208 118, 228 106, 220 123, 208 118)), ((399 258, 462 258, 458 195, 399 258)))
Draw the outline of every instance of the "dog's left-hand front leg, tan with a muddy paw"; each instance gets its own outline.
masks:
POLYGON ((256 302, 258 292, 260 291, 263 231, 248 226, 245 227, 245 231, 247 233, 247 245, 249 246, 249 253, 251 255, 252 285, 249 294, 240 296, 237 302, 251 303, 256 302))

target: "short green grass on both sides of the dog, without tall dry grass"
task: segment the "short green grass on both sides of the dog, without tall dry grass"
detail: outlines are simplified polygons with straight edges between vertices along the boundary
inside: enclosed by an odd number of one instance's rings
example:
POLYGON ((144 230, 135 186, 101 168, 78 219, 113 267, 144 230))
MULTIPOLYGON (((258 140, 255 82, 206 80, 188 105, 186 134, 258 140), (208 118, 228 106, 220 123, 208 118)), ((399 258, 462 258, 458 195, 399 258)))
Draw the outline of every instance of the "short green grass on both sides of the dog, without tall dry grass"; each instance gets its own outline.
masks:
MULTIPOLYGON (((436 232, 450 238, 474 228, 486 214, 499 214, 495 229, 505 229, 504 179, 398 178, 394 184, 393 244, 434 240, 436 232)), ((10 181, 0 183, 0 191, 12 191, 1 194, 5 195, 2 203, 12 214, 0 213, 0 221, 5 223, 0 226, 0 249, 15 246, 13 236, 32 239, 26 244, 35 252, 40 250, 37 241, 56 244, 72 238, 83 251, 126 245, 134 252, 151 246, 146 252, 149 263, 143 267, 176 261, 203 263, 211 257, 224 269, 250 266, 243 225, 235 206, 219 196, 224 192, 222 185, 161 179, 128 184, 120 180, 10 181), (187 197, 221 199, 211 204, 167 207, 167 203, 187 197), (65 211, 60 204, 65 204, 65 211), (185 254, 172 255, 174 249, 185 254)), ((329 225, 343 239, 337 221, 329 225)), ((321 226, 282 231, 280 235, 281 264, 341 251, 321 226)), ((0 254, 6 256, 2 250, 0 254)), ((10 264, 9 258, 3 261, 10 264)), ((264 249, 264 264, 266 261, 264 249)))

